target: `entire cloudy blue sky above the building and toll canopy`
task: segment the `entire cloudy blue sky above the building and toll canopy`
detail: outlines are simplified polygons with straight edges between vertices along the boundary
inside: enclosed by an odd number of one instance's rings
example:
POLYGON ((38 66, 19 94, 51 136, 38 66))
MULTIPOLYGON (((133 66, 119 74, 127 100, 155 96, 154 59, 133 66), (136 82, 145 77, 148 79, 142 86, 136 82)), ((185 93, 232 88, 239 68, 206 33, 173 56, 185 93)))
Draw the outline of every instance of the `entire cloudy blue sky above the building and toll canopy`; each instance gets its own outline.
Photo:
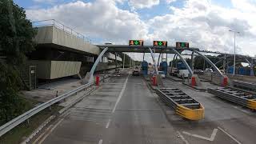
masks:
MULTIPOLYGON (((14 0, 32 22, 55 19, 94 44, 130 39, 190 42, 200 50, 256 56, 255 0, 14 0)), ((132 54, 142 60, 142 54, 132 54)))

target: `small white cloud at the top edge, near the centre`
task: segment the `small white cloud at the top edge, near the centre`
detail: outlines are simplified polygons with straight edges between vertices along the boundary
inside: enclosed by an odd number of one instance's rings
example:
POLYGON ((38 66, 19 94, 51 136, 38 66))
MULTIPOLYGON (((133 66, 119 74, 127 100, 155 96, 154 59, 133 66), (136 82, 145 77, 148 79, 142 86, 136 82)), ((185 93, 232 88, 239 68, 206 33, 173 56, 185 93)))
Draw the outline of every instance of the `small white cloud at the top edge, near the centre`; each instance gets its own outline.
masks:
POLYGON ((150 8, 159 4, 159 0, 130 0, 129 5, 134 9, 150 8))

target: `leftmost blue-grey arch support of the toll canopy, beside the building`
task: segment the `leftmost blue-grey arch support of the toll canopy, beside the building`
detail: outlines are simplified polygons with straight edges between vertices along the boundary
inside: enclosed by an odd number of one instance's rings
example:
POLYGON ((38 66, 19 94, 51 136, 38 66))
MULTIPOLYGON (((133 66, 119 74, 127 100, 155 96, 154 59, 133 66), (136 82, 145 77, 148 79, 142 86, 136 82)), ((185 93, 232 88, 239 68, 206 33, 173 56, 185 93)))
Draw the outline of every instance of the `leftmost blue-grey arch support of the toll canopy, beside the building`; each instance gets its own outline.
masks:
POLYGON ((98 55, 98 58, 94 62, 94 66, 90 69, 90 72, 86 74, 86 77, 85 77, 86 83, 94 81, 94 71, 98 66, 98 62, 102 59, 102 56, 106 53, 108 49, 109 49, 108 47, 105 47, 104 50, 102 50, 101 54, 98 55))

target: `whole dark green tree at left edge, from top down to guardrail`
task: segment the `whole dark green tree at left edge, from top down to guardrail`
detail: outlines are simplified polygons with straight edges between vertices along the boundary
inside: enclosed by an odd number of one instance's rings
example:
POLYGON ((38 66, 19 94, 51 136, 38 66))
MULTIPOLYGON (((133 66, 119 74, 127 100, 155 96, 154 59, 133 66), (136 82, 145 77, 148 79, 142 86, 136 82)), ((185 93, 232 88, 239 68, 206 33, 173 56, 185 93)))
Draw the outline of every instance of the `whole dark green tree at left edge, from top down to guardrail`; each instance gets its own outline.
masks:
POLYGON ((0 58, 0 124, 24 110, 18 96, 22 83, 14 66, 22 66, 26 53, 34 50, 35 34, 23 8, 12 0, 0 1, 0 51, 6 56, 6 59, 0 58))

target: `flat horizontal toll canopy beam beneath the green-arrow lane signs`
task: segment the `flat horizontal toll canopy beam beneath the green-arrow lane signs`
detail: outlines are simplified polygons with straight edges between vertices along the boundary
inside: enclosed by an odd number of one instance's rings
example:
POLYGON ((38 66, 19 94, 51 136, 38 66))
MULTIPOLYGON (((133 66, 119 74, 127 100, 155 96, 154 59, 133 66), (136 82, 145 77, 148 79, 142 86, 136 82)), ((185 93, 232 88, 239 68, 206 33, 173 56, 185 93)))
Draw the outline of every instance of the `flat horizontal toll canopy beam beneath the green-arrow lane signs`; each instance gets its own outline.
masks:
POLYGON ((198 48, 177 48, 176 46, 128 46, 128 45, 98 45, 102 50, 108 47, 109 52, 133 52, 133 53, 150 53, 150 49, 155 53, 174 54, 174 50, 181 53, 183 50, 199 50, 198 48), (150 48, 150 49, 149 49, 150 48))

